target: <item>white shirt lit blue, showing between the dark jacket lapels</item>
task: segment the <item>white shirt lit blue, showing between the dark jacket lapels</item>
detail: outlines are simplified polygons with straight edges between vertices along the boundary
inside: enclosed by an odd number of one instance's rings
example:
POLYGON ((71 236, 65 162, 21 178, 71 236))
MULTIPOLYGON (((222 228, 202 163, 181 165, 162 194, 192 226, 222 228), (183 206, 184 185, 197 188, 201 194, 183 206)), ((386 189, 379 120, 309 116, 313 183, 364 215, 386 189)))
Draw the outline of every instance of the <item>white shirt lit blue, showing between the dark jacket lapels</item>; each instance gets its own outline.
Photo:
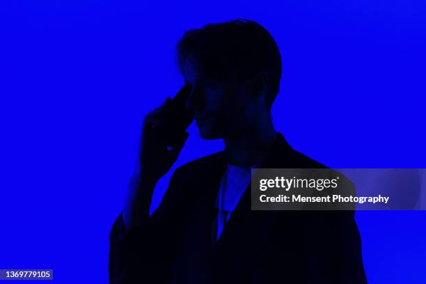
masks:
POLYGON ((230 214, 237 207, 241 196, 250 183, 251 168, 254 168, 254 166, 241 167, 228 164, 226 167, 216 196, 216 209, 219 210, 219 214, 216 217, 216 239, 221 236, 225 223, 229 220, 230 214))

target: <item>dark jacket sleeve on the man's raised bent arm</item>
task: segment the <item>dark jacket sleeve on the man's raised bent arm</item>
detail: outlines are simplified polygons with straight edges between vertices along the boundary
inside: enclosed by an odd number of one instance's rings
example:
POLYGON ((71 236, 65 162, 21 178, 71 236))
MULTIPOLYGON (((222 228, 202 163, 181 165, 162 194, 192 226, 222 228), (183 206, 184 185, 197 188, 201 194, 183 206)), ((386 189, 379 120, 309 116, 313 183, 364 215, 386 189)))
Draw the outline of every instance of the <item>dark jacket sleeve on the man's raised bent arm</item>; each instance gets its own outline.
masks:
POLYGON ((182 196, 176 180, 175 172, 161 205, 138 228, 127 230, 123 214, 117 217, 110 234, 110 283, 164 283, 171 276, 182 196))

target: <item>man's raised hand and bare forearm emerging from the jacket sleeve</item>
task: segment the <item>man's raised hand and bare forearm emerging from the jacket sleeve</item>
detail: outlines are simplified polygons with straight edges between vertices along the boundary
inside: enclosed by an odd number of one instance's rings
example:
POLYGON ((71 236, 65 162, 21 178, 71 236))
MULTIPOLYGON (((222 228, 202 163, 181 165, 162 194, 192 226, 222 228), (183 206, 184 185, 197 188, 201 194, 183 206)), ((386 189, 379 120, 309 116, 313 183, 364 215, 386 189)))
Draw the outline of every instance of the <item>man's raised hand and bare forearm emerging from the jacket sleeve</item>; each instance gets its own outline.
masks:
POLYGON ((155 184, 178 159, 189 135, 175 127, 180 118, 173 117, 173 107, 173 101, 168 98, 143 120, 139 169, 130 184, 123 209, 123 221, 128 230, 148 219, 155 184))

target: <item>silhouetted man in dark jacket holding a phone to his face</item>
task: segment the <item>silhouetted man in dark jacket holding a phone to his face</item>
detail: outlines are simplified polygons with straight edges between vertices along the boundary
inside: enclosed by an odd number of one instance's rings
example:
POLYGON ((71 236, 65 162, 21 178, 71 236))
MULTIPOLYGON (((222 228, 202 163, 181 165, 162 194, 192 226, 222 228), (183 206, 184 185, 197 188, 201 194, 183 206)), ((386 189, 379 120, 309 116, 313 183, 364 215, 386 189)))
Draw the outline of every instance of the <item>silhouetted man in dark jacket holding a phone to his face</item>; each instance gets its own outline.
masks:
POLYGON ((325 168, 274 129, 281 55, 266 29, 239 19, 188 31, 178 63, 200 136, 226 149, 178 168, 150 216, 187 134, 168 148, 171 100, 145 116, 139 173, 111 230, 111 283, 366 283, 354 212, 251 211, 251 168, 325 168))

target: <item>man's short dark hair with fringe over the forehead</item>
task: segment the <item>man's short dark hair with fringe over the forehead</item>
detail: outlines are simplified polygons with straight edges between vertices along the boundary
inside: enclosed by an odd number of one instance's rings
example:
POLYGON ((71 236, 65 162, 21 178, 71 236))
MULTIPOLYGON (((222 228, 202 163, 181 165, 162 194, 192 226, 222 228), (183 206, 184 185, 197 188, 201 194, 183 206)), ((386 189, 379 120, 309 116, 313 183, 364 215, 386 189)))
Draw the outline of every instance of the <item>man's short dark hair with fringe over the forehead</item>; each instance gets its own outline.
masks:
POLYGON ((256 22, 236 19, 187 31, 178 42, 177 55, 181 72, 183 62, 189 55, 219 79, 231 72, 242 77, 266 72, 269 78, 269 107, 278 94, 281 54, 271 34, 256 22))

